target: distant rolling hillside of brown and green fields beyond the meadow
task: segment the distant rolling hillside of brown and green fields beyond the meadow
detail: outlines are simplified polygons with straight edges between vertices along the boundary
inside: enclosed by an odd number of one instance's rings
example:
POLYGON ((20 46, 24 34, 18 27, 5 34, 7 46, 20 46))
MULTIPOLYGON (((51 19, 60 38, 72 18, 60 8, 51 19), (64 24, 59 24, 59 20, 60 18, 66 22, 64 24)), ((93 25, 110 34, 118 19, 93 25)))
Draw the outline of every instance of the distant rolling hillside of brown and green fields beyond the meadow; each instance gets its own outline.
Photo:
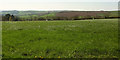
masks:
MULTIPOLYGON (((16 21, 32 20, 81 20, 120 18, 118 11, 2 11, 0 15, 14 15, 16 21)), ((8 19, 7 19, 8 20, 8 19)), ((6 20, 6 21, 7 21, 6 20)))

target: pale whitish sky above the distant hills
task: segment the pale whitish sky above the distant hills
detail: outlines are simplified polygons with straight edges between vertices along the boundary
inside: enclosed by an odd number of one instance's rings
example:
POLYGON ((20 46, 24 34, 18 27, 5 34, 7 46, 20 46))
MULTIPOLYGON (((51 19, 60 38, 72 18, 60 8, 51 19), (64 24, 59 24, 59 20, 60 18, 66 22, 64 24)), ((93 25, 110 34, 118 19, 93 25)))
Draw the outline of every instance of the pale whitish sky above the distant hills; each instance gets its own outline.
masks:
POLYGON ((0 0, 0 10, 118 10, 119 0, 0 0))

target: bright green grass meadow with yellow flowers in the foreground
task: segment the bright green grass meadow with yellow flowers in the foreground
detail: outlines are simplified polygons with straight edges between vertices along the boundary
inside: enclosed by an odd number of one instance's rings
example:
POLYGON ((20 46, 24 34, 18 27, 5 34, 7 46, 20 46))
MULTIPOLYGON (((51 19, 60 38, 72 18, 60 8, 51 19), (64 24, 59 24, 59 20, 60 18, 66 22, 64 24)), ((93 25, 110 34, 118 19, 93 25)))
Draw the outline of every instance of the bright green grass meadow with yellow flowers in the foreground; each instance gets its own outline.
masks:
POLYGON ((3 58, 117 58, 118 19, 2 22, 3 58))

